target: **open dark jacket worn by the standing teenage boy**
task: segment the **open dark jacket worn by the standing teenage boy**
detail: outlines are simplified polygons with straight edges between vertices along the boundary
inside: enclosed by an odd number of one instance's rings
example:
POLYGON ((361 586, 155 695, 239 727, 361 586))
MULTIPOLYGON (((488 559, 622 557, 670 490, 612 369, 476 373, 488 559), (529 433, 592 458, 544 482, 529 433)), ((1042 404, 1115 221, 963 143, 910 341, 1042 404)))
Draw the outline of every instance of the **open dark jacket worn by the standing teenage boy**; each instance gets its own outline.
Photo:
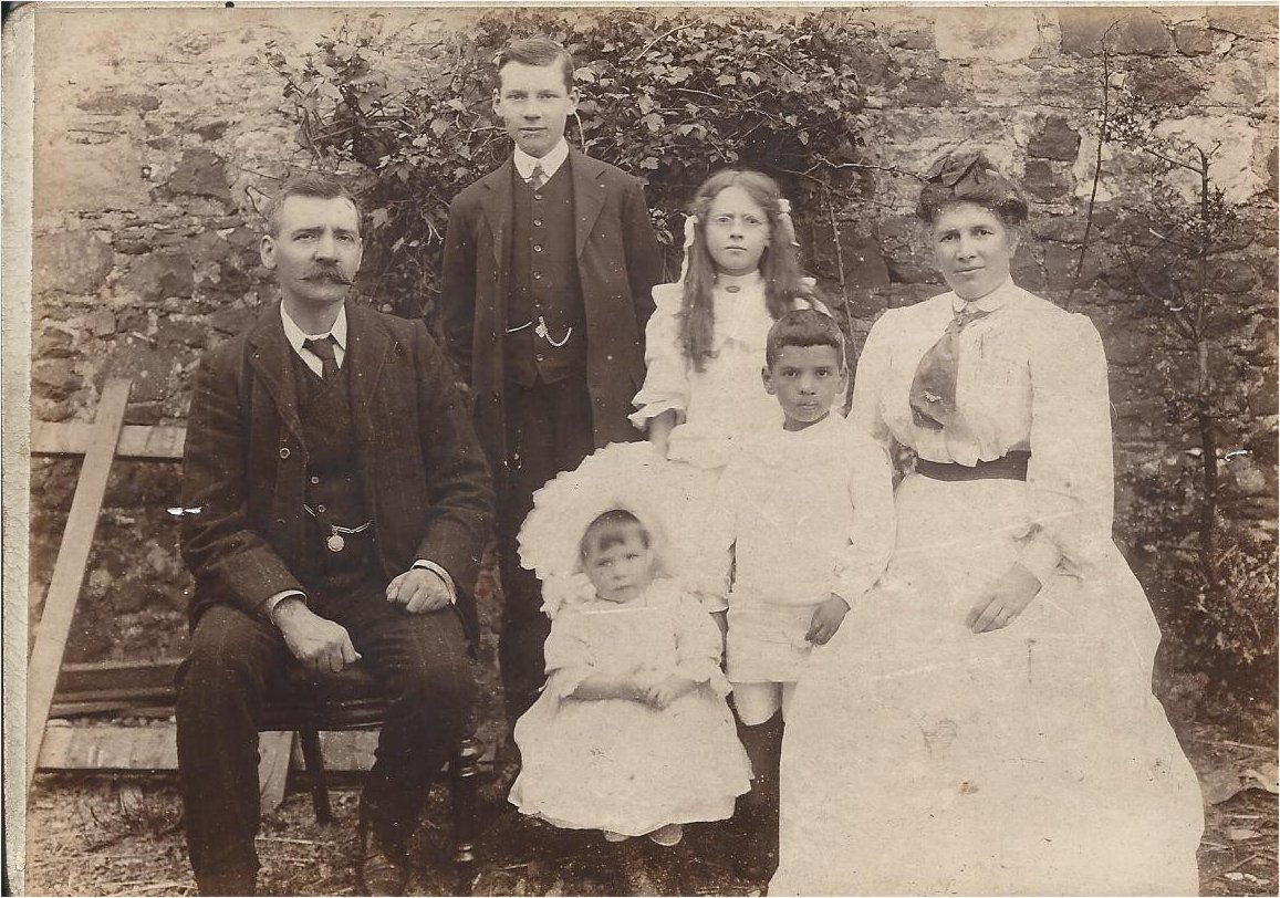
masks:
MULTIPOLYGON (((570 150, 577 270, 586 307, 586 386, 595 445, 632 440, 631 399, 644 384, 644 327, 662 256, 644 185, 621 169, 570 150)), ((440 321, 449 354, 475 398, 489 461, 507 455, 503 335, 511 267, 512 178, 508 159, 449 207, 440 321)))

